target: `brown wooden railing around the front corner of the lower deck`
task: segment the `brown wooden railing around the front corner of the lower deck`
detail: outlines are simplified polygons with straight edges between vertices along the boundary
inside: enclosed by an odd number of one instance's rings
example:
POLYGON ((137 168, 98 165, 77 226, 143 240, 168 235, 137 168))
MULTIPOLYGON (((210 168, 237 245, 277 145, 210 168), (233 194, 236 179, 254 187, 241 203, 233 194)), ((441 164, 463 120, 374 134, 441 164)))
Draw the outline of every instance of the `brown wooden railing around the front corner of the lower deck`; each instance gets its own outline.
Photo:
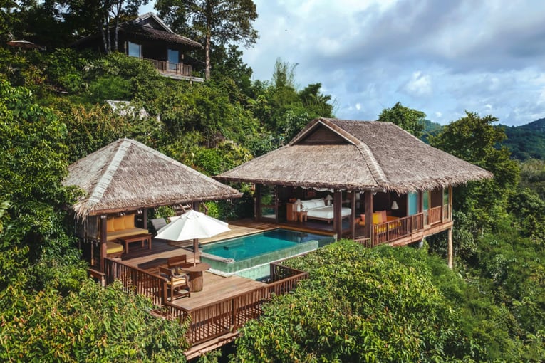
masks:
POLYGON ((261 315, 261 305, 271 300, 272 295, 289 293, 300 280, 308 278, 308 273, 304 271, 271 263, 273 282, 266 286, 194 309, 185 309, 167 300, 166 280, 158 275, 110 258, 105 258, 105 274, 106 283, 120 280, 128 292, 149 296, 155 305, 167 307, 170 317, 179 319, 180 324, 190 318, 187 340, 192 346, 236 332, 246 322, 261 315))

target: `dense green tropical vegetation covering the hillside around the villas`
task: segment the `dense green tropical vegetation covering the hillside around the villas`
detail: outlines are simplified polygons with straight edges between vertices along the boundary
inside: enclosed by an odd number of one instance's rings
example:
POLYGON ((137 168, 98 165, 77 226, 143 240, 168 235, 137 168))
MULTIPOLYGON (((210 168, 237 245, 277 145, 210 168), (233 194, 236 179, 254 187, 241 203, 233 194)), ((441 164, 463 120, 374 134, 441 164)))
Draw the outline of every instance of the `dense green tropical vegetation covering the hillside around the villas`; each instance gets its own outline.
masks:
MULTIPOLYGON (((232 2, 249 10, 235 24, 244 31, 244 21, 251 26, 255 19, 254 4, 232 2)), ((270 80, 252 80, 232 41, 251 44, 253 31, 222 38, 224 28, 215 28, 216 36, 210 29, 205 83, 161 77, 115 48, 106 55, 66 48, 74 34, 134 15, 137 3, 32 0, 0 8, 2 361, 185 359, 187 325, 155 317, 150 300, 117 284, 101 288, 88 278, 67 209, 79 191, 61 184, 68 164, 130 137, 214 175, 280 147, 309 120, 335 113, 336 102, 321 84, 296 86, 296 65, 281 59, 270 80), (14 36, 48 50, 4 46, 14 36), (130 101, 129 112, 114 112, 105 100, 130 101), (147 117, 135 112, 141 108, 147 117)), ((175 13, 165 16, 187 35, 207 36, 203 18, 192 24, 175 13)), ((392 103, 380 120, 417 136, 432 126, 423 112, 392 103)), ((495 176, 455 190, 453 270, 445 263, 445 236, 428 238, 420 249, 370 250, 341 241, 288 261, 311 278, 247 325, 230 359, 544 361, 545 164, 518 162, 499 147, 507 130, 497 121, 467 112, 427 136, 495 176)), ((251 213, 251 189, 237 187, 245 196, 234 208, 211 202, 209 210, 220 218, 251 213)))

